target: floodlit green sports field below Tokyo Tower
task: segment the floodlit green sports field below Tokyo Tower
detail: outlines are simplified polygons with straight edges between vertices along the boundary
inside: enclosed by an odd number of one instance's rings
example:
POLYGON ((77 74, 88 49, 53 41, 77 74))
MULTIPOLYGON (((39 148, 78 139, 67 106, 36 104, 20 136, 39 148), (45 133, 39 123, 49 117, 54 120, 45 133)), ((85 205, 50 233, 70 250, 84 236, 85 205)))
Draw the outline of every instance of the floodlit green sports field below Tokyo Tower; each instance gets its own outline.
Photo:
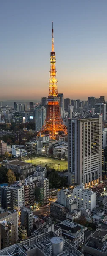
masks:
POLYGON ((68 169, 68 163, 64 160, 57 160, 50 157, 36 157, 26 160, 27 163, 41 165, 44 167, 46 164, 50 168, 54 168, 56 171, 63 171, 68 169))

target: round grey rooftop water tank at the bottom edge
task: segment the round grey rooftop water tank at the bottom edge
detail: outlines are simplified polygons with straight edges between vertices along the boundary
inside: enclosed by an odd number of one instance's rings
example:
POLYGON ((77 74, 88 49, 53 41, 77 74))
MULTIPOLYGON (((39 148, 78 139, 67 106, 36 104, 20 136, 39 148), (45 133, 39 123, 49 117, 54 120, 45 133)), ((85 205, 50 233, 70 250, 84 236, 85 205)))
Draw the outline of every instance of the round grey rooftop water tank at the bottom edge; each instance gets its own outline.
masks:
POLYGON ((60 238, 58 236, 55 236, 55 237, 52 237, 50 239, 50 241, 51 241, 51 244, 52 244, 53 256, 56 256, 59 253, 63 252, 63 239, 62 238, 60 238))

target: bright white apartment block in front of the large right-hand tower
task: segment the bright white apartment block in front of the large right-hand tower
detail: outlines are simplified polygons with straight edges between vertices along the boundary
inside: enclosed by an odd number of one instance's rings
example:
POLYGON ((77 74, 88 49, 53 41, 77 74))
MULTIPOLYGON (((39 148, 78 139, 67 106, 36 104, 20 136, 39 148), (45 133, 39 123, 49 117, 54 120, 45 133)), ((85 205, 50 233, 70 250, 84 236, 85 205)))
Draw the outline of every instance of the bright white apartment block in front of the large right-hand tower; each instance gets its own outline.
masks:
POLYGON ((73 196, 78 202, 78 208, 84 207, 92 211, 96 207, 96 192, 84 189, 83 183, 73 189, 73 196))

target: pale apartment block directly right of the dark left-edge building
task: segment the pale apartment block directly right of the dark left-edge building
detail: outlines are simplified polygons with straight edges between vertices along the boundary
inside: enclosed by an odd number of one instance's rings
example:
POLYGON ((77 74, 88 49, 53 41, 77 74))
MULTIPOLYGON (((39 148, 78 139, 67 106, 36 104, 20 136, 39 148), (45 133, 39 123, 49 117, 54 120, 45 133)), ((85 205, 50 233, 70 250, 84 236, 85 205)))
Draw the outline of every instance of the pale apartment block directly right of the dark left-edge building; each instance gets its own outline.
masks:
POLYGON ((13 209, 20 212, 20 207, 25 205, 24 185, 18 181, 11 187, 13 188, 13 209))

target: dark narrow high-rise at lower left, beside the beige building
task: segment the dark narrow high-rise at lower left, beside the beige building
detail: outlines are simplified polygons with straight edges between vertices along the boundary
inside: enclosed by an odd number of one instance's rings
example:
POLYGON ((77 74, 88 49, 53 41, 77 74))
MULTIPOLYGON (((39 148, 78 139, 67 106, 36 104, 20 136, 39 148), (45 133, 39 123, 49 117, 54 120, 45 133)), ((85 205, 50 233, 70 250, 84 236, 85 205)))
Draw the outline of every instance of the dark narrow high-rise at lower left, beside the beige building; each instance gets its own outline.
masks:
POLYGON ((33 212, 25 206, 21 207, 21 225, 26 228, 27 236, 30 236, 33 230, 33 212))

